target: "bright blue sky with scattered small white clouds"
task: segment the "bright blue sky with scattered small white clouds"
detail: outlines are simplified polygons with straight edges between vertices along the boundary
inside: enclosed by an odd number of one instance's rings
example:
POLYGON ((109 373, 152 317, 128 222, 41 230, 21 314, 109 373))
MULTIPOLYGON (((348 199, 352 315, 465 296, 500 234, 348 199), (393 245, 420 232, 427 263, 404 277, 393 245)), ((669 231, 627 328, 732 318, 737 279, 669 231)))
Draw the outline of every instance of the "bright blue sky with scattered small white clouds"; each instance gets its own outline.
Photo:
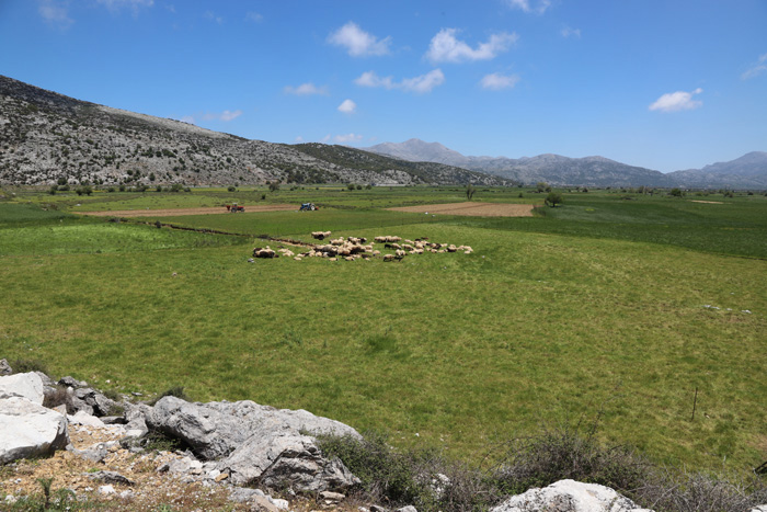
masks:
POLYGON ((0 0, 0 73, 273 143, 767 150, 767 1, 0 0))

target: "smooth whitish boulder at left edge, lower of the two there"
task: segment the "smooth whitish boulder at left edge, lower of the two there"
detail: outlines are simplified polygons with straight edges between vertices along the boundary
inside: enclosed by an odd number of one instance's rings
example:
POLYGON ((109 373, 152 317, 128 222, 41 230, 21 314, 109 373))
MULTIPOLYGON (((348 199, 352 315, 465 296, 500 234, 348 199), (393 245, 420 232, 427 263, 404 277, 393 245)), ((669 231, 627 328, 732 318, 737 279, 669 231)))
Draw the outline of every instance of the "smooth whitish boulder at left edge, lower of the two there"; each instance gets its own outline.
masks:
POLYGON ((65 416, 26 398, 0 399, 0 464, 48 455, 67 444, 65 416))

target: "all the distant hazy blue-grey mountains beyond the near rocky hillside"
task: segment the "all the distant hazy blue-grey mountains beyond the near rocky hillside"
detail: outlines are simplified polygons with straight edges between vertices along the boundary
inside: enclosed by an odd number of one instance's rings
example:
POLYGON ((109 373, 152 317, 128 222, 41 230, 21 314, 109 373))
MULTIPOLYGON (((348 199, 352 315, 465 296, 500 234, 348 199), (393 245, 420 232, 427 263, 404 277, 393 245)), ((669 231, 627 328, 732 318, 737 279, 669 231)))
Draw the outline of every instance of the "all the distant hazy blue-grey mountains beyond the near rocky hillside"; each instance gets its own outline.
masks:
POLYGON ((467 157, 439 143, 425 143, 417 138, 400 144, 378 144, 366 149, 404 160, 462 167, 526 184, 545 181, 556 186, 767 187, 767 152, 763 151, 749 152, 736 160, 713 163, 703 169, 664 174, 604 157, 467 157))

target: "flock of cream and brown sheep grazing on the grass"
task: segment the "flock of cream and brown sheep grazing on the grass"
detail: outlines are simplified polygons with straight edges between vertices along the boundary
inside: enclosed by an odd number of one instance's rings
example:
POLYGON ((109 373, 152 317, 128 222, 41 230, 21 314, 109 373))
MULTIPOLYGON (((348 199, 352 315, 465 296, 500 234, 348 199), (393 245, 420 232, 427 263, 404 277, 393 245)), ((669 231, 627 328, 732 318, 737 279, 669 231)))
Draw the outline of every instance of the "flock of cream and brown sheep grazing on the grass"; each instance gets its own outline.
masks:
MULTIPOLYGON (((331 235, 330 231, 312 231, 311 237, 317 240, 324 240, 331 235)), ((417 238, 415 240, 402 240, 400 237, 376 237, 371 243, 367 243, 366 238, 343 237, 331 240, 330 243, 318 243, 312 246, 308 251, 296 254, 289 249, 274 250, 268 246, 264 248, 256 247, 253 249, 253 258, 293 258, 296 261, 301 261, 304 258, 327 258, 330 261, 344 259, 354 261, 359 259, 370 259, 381 257, 384 261, 402 260, 408 254, 423 254, 424 252, 463 252, 470 254, 473 249, 469 246, 455 246, 453 243, 434 243, 426 238, 417 238), (385 249, 391 249, 394 252, 382 254, 381 251, 374 249, 374 244, 384 243, 385 249)), ((252 259, 251 259, 252 261, 252 259)))

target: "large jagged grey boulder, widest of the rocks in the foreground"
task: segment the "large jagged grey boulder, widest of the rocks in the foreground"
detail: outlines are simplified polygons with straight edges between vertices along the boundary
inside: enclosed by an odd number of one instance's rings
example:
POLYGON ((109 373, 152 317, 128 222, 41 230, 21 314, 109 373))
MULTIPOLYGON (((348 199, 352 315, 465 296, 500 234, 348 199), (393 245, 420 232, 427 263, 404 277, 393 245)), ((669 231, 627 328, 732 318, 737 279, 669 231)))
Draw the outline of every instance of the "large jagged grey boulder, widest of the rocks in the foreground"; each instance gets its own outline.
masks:
POLYGON ((253 401, 190 403, 158 401, 146 417, 150 430, 176 437, 239 485, 259 483, 302 492, 346 489, 359 480, 337 459, 322 456, 308 433, 359 437, 341 422, 305 410, 275 409, 253 401))

